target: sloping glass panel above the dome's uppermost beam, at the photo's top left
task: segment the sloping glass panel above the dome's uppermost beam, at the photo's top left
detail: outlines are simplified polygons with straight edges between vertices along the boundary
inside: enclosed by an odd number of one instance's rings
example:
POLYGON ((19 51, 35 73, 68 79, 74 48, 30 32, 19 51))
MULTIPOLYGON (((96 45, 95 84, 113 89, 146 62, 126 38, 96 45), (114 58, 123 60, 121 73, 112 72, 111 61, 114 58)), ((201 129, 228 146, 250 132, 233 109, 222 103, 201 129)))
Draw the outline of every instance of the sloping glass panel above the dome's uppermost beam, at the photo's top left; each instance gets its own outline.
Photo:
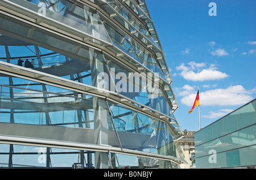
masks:
MULTIPOLYGON (((44 14, 57 22, 68 25, 71 28, 87 33, 102 41, 111 43, 97 12, 87 6, 80 7, 67 0, 61 1, 38 1, 38 0, 9 0, 20 6, 26 7, 36 13, 41 12, 40 8, 46 8, 44 14)), ((57 25, 52 23, 52 25, 57 25)), ((73 32, 75 33, 75 32, 73 32)), ((98 41, 97 41, 98 42, 98 41)))

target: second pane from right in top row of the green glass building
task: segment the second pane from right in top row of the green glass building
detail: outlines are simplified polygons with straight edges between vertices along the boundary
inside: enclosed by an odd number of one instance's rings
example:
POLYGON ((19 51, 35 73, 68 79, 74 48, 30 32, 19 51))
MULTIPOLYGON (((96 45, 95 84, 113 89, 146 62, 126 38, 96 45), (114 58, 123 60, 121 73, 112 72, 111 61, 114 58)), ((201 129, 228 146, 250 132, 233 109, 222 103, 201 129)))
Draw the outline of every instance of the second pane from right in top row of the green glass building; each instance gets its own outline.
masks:
POLYGON ((224 133, 229 134, 230 132, 237 131, 237 111, 226 115, 224 118, 224 133))

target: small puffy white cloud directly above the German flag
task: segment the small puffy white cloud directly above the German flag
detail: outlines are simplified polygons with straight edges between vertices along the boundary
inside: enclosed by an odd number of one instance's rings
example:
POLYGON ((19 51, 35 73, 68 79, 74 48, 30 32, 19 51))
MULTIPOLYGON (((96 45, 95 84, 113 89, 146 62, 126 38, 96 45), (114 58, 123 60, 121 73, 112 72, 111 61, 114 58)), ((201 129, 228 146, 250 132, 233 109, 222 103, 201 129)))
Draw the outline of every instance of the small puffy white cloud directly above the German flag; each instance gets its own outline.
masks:
POLYGON ((189 62, 188 65, 189 66, 187 67, 184 65, 184 63, 182 63, 180 66, 176 67, 176 70, 180 70, 180 75, 183 76, 183 78, 186 80, 217 80, 224 79, 229 76, 226 73, 217 71, 216 66, 213 64, 210 65, 210 67, 204 69, 202 68, 206 66, 205 63, 189 62))

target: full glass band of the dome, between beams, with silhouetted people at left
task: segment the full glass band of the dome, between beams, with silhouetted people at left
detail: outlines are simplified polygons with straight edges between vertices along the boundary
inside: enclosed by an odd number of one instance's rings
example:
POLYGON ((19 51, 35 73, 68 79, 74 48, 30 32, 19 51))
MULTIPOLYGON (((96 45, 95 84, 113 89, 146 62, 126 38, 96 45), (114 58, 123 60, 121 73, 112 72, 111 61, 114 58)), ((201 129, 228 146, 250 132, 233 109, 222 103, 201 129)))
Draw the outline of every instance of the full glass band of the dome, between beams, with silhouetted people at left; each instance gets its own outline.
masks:
MULTIPOLYGON (((47 35, 44 39, 52 41, 47 35)), ((78 53, 81 58, 75 58, 6 35, 1 35, 0 40, 9 41, 9 46, 0 45, 0 61, 117 92, 173 117, 168 101, 173 102, 174 96, 167 84, 164 91, 160 83, 153 82, 159 79, 153 73, 133 72, 93 48, 81 48, 78 53)))

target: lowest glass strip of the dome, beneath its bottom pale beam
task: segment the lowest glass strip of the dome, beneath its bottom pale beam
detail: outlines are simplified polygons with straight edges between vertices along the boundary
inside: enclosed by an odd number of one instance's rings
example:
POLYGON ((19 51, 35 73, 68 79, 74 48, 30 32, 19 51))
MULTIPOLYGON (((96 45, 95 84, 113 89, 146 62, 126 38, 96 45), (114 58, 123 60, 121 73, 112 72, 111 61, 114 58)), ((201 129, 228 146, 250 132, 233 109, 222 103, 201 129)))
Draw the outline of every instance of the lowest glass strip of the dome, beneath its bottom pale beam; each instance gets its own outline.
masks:
MULTIPOLYGON (((0 165, 2 169, 93 169, 94 153, 95 151, 81 151, 79 149, 0 144, 0 165), (13 163, 11 165, 9 163, 10 146, 13 149, 13 163), (47 161, 47 158, 50 158, 51 161, 47 161)), ((105 152, 105 154, 109 156, 108 166, 110 169, 158 168, 158 160, 154 158, 151 159, 110 152, 105 152)), ((175 166, 170 161, 166 161, 166 164, 175 166)))

